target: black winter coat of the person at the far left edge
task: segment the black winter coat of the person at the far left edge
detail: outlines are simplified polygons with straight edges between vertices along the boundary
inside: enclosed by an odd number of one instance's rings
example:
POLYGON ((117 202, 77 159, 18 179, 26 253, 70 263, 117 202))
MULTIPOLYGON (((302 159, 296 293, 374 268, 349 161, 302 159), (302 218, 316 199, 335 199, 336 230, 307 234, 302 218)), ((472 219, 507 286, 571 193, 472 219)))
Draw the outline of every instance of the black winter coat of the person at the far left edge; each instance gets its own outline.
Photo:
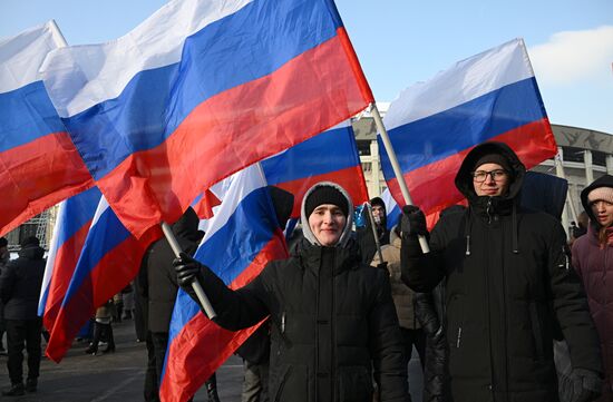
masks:
POLYGON ((19 251, 19 258, 10 261, 0 275, 0 296, 4 303, 6 320, 38 317, 38 301, 46 261, 45 251, 28 246, 19 251))

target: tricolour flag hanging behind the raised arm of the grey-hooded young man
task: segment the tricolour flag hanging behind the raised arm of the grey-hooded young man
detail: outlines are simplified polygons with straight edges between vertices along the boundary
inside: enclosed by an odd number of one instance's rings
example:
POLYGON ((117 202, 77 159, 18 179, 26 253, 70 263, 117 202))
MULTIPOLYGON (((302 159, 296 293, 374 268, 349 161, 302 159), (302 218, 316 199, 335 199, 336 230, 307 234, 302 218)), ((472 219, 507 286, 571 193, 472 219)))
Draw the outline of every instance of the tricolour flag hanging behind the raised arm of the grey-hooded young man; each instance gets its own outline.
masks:
MULTIPOLYGON (((288 249, 260 166, 253 165, 231 179, 195 258, 227 286, 239 288, 257 276, 269 261, 286 257, 288 249)), ((162 401, 188 400, 256 327, 223 330, 179 291, 159 386, 162 401)))

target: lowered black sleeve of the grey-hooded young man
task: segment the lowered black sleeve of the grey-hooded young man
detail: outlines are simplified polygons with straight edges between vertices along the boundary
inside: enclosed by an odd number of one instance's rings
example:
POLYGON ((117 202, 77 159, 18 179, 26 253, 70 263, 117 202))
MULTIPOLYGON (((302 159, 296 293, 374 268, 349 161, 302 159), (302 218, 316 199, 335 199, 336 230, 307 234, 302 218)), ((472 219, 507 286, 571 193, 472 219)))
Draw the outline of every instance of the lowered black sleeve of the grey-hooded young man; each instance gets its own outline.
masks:
POLYGON ((407 385, 405 347, 389 278, 382 269, 376 273, 376 298, 369 313, 370 351, 374 381, 379 384, 380 401, 410 401, 407 385))

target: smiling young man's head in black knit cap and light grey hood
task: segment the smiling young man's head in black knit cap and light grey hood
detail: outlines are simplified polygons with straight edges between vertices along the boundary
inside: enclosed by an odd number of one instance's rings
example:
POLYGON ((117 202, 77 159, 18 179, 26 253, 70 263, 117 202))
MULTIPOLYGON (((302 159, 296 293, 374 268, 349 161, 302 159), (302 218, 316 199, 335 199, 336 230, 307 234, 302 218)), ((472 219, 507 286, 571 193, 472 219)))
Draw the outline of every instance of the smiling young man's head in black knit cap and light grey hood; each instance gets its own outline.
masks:
POLYGON ((353 203, 344 188, 331 182, 315 184, 306 190, 302 199, 301 219, 304 238, 318 246, 344 247, 351 234, 352 212, 353 203), (334 210, 322 210, 322 206, 334 206, 337 217, 330 219, 334 210), (327 244, 331 238, 335 238, 335 243, 327 244))

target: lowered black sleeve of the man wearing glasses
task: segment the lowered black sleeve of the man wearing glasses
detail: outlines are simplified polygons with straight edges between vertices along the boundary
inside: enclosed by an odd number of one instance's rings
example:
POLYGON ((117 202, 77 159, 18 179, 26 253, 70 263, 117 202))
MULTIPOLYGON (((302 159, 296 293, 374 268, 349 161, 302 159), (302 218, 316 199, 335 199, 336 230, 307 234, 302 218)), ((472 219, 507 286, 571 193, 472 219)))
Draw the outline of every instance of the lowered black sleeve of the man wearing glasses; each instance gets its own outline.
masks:
POLYGON ((565 234, 560 224, 552 231, 548 269, 553 308, 571 351, 573 369, 602 373, 600 343, 590 315, 583 285, 568 262, 565 234))

